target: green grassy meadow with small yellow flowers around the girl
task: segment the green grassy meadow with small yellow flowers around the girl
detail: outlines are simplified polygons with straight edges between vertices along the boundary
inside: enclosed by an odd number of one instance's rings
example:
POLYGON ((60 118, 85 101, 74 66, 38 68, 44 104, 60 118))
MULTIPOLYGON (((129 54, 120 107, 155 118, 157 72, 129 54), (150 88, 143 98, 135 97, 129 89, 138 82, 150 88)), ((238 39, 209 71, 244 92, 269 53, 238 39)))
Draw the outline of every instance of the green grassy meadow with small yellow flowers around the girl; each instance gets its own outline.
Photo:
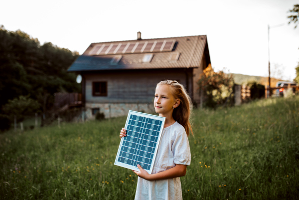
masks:
MULTIPOLYGON (((0 198, 135 197, 137 177, 114 166, 126 117, 0 135, 0 198)), ((299 98, 194 110, 183 199, 299 197, 299 98)))

